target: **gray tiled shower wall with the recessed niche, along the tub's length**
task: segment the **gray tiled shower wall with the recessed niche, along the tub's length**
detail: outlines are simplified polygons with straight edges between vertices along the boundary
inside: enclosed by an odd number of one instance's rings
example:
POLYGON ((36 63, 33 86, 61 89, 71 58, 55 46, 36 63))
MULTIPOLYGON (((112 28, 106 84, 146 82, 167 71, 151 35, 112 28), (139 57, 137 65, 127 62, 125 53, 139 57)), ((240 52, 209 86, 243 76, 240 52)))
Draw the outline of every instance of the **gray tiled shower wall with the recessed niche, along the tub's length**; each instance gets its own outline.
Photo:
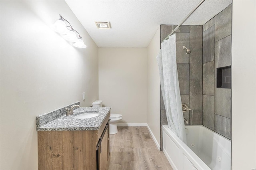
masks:
POLYGON ((232 5, 203 25, 203 125, 229 139, 231 88, 216 88, 216 70, 231 65, 231 22, 232 5))

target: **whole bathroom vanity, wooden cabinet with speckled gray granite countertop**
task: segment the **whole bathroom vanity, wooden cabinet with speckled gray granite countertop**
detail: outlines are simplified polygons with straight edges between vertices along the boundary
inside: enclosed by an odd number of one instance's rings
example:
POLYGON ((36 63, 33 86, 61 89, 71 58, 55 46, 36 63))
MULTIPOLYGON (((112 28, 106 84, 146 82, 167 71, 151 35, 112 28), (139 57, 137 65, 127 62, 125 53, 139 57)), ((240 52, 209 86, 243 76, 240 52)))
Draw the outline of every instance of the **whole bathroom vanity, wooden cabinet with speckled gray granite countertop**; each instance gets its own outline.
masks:
POLYGON ((110 161, 109 118, 109 107, 78 108, 73 115, 62 115, 45 125, 42 125, 44 115, 37 117, 38 169, 107 170, 110 161), (75 118, 84 113, 99 115, 75 118))

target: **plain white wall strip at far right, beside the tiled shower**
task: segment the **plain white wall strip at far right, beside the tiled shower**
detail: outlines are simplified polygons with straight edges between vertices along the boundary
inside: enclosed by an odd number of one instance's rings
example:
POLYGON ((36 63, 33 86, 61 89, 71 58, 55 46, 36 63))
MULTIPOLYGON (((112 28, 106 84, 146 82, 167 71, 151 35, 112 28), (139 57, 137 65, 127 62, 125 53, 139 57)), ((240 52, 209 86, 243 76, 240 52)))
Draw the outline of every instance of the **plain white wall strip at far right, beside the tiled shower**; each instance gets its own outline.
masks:
POLYGON ((233 0, 232 169, 256 168, 256 1, 233 0))

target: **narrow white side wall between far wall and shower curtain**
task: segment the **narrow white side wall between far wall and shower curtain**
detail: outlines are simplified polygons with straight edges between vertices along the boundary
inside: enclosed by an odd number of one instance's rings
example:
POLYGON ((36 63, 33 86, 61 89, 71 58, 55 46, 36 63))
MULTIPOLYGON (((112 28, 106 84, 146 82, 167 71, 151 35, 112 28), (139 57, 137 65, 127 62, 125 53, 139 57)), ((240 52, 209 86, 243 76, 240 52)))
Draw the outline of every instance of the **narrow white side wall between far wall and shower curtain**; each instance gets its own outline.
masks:
POLYGON ((160 27, 148 45, 148 114, 147 123, 160 149, 160 79, 156 56, 160 51, 160 27))

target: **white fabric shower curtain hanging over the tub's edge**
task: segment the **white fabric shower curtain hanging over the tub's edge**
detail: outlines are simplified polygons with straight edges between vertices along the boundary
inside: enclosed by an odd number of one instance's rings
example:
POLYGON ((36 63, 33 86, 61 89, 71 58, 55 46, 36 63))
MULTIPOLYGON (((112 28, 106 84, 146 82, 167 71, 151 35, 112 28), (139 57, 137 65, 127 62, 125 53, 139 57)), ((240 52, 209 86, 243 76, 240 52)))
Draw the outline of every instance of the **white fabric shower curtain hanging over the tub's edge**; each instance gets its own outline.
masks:
POLYGON ((186 132, 176 64, 176 35, 161 43, 156 57, 169 128, 186 144, 186 132))

